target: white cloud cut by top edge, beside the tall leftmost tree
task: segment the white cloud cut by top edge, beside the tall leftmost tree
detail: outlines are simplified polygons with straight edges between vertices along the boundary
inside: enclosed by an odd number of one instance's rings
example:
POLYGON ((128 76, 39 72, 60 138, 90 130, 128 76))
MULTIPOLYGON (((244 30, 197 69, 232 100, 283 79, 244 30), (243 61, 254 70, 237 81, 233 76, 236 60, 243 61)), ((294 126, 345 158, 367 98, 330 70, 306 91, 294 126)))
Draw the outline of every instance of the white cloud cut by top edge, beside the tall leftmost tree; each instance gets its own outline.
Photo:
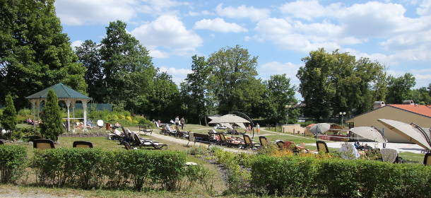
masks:
POLYGON ((134 0, 59 0, 55 2, 57 16, 65 25, 129 21, 136 16, 134 6, 136 6, 134 0))

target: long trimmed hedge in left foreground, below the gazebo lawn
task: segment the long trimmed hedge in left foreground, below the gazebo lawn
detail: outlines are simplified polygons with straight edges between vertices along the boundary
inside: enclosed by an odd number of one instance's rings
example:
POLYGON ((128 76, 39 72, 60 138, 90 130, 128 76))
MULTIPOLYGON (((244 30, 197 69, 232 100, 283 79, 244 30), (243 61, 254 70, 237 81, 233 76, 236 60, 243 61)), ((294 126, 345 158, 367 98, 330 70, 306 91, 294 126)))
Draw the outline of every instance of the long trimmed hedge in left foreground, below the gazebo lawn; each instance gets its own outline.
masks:
POLYGON ((31 166, 42 185, 176 190, 185 162, 179 151, 56 148, 35 150, 31 166))

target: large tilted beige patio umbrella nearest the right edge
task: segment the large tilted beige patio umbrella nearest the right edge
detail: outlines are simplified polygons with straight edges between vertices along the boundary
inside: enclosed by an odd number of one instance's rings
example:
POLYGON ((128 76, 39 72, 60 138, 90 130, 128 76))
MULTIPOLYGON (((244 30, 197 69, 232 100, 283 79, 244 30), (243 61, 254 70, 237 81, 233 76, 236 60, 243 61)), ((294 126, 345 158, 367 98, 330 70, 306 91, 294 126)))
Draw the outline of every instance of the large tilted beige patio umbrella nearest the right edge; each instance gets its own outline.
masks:
POLYGON ((413 141, 415 144, 418 144, 427 150, 431 150, 431 144, 429 141, 427 141, 427 138, 429 139, 429 137, 425 137, 427 134, 422 134, 418 129, 412 127, 411 124, 386 119, 377 119, 377 121, 381 122, 384 126, 388 127, 404 138, 413 141))

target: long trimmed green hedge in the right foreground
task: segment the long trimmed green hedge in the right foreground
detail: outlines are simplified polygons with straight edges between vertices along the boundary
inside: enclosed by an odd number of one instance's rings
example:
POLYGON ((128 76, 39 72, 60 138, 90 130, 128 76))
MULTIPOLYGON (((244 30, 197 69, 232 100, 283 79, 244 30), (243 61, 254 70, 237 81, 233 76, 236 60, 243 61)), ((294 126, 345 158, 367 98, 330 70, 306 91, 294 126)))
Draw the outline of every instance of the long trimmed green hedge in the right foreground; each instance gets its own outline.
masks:
POLYGON ((334 197, 429 197, 431 167, 338 158, 259 156, 252 161, 258 194, 334 197))

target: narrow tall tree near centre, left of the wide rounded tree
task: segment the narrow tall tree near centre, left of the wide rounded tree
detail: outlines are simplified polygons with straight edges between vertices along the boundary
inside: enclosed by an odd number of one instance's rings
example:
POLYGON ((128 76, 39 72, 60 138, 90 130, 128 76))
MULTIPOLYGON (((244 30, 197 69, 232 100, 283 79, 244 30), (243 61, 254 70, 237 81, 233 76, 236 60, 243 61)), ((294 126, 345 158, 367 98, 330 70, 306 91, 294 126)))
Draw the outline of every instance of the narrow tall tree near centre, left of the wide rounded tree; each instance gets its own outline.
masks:
POLYGON ((199 124, 201 120, 207 124, 206 117, 210 115, 215 103, 214 95, 208 91, 208 79, 212 69, 205 57, 194 55, 191 59, 193 73, 187 74, 187 78, 181 84, 181 93, 191 115, 199 119, 199 124))

